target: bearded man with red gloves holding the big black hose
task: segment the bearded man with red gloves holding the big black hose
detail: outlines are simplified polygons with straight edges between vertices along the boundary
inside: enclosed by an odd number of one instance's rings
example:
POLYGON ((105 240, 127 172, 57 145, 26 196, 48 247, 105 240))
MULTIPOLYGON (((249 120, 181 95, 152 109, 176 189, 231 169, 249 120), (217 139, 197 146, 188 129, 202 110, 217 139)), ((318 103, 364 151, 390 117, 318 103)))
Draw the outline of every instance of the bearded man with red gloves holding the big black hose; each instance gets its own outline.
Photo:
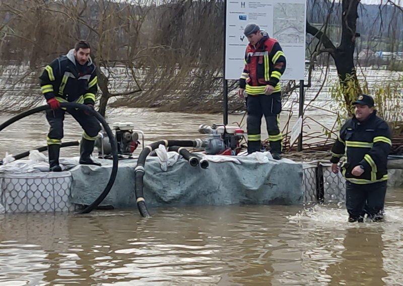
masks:
POLYGON ((63 138, 64 112, 70 113, 83 127, 80 143, 80 164, 101 166, 91 159, 94 142, 101 130, 98 120, 83 110, 60 108, 60 102, 83 103, 94 108, 97 93, 96 67, 90 57, 91 47, 86 41, 76 43, 68 54, 59 56, 45 66, 39 77, 40 86, 51 110, 46 111, 50 129, 47 135, 49 170, 60 172, 59 153, 63 138))

